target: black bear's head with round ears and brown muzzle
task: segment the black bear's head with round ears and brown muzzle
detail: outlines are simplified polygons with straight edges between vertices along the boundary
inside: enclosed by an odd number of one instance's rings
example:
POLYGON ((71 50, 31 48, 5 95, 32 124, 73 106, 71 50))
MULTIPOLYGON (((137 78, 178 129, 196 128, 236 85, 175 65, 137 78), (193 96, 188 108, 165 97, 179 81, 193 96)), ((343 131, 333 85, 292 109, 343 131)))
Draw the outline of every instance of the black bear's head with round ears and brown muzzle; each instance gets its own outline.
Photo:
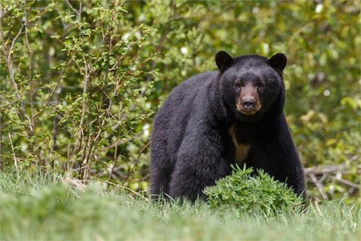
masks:
POLYGON ((217 53, 223 102, 236 119, 258 121, 269 112, 275 115, 282 111, 282 70, 286 63, 283 53, 277 53, 270 59, 258 55, 232 58, 225 51, 217 53))

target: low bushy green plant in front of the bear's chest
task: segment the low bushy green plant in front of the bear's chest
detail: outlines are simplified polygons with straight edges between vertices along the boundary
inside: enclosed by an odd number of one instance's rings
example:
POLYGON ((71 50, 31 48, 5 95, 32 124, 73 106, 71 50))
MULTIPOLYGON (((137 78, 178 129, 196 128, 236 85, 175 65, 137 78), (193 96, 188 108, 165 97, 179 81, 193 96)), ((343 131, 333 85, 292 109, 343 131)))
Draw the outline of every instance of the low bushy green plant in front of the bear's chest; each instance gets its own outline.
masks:
POLYGON ((212 208, 224 210, 234 207, 239 212, 262 211, 264 214, 282 213, 301 209, 303 199, 297 197, 286 184, 274 180, 262 169, 253 176, 253 168, 232 167, 230 176, 205 188, 212 208))

